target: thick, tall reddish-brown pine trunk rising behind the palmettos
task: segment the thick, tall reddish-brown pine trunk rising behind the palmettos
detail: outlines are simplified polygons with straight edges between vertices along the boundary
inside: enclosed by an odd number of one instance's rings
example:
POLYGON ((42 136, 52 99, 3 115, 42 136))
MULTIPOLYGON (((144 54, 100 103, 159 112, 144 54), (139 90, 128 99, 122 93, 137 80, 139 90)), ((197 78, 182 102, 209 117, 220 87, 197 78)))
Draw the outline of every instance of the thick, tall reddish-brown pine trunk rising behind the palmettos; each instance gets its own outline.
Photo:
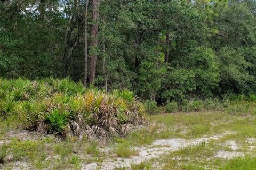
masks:
POLYGON ((99 10, 98 10, 98 0, 92 1, 92 43, 91 48, 94 50, 94 54, 91 56, 90 59, 90 77, 89 81, 92 83, 95 79, 96 74, 96 62, 97 62, 97 54, 95 54, 95 49, 98 46, 98 19, 99 19, 99 10))

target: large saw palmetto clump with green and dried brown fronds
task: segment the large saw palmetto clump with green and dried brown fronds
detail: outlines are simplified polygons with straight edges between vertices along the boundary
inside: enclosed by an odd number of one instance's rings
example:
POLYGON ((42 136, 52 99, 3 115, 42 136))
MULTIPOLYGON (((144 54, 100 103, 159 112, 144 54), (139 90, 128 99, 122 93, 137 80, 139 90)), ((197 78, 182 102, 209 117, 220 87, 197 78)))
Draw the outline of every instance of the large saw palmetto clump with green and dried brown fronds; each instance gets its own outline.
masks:
POLYGON ((145 123, 143 103, 129 90, 111 93, 85 88, 70 79, 0 78, 0 117, 25 128, 62 137, 127 135, 145 123))

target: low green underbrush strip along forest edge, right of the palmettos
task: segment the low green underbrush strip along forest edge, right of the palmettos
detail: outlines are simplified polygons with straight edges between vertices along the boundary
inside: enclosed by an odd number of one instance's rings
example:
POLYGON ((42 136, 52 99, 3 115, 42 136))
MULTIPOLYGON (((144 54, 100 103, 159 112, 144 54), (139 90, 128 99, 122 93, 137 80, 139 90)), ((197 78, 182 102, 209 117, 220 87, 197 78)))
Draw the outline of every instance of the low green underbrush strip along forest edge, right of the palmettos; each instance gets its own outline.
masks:
POLYGON ((169 101, 157 105, 155 101, 146 101, 146 112, 149 115, 174 112, 224 111, 230 115, 245 116, 256 114, 256 95, 226 95, 222 99, 205 98, 169 101))

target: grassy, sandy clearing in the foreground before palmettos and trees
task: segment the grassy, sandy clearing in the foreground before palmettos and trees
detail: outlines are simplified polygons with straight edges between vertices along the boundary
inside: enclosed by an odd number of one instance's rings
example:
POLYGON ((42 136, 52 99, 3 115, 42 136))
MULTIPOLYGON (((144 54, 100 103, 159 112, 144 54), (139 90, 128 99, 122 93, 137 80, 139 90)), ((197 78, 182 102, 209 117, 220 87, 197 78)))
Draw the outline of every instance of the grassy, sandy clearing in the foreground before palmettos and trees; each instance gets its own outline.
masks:
POLYGON ((2 120, 0 146, 11 152, 1 168, 232 169, 244 159, 251 162, 256 153, 254 115, 204 111, 151 115, 147 120, 150 124, 137 126, 128 137, 107 142, 75 137, 60 142, 2 120))

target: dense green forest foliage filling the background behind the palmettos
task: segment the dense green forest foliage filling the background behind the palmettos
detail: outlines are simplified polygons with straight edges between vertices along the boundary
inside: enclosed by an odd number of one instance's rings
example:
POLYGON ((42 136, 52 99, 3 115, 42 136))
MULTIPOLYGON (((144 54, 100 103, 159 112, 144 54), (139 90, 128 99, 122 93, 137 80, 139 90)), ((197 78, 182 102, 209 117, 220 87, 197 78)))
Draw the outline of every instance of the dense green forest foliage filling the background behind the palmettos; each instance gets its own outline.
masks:
POLYGON ((106 91, 135 89, 158 103, 256 92, 255 1, 93 0, 87 15, 86 3, 0 1, 0 76, 84 82, 88 52, 93 83, 106 91))

